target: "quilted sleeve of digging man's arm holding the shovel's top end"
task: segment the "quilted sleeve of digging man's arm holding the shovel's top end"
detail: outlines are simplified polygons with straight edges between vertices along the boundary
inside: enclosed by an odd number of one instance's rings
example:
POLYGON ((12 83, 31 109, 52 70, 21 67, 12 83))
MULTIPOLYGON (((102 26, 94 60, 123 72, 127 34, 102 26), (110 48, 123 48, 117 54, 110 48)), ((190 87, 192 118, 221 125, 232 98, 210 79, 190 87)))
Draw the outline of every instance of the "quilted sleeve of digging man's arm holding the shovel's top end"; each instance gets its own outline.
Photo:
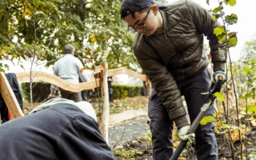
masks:
POLYGON ((197 30, 204 34, 209 40, 210 54, 214 63, 214 70, 225 70, 226 54, 219 53, 219 49, 225 50, 226 42, 218 43, 218 38, 214 34, 214 28, 221 26, 218 21, 212 18, 210 12, 195 2, 186 0, 186 5, 190 10, 197 30))

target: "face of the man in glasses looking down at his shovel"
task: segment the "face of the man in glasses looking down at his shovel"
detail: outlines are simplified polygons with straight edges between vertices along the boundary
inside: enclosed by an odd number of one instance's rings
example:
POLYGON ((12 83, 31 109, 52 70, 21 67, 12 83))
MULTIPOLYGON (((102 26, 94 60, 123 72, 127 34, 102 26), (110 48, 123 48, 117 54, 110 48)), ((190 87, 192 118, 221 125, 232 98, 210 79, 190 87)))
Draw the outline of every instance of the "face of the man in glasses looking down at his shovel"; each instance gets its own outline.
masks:
POLYGON ((135 18, 130 14, 124 18, 130 30, 145 34, 146 36, 154 34, 157 29, 157 21, 151 7, 142 13, 135 12, 134 16, 135 18))

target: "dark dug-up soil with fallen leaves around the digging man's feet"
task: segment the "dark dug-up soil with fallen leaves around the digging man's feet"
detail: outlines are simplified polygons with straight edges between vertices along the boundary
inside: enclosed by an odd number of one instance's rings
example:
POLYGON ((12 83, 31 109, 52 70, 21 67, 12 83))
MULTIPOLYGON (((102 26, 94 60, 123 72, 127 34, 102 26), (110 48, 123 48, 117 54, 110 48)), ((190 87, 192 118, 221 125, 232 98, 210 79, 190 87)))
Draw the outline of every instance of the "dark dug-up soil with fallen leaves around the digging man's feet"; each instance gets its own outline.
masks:
MULTIPOLYGON (((243 153, 246 156, 246 151, 248 154, 250 154, 250 151, 256 150, 256 131, 248 132, 247 134, 248 141, 253 142, 250 146, 247 146, 247 150, 245 146, 243 146, 243 153)), ((245 139, 243 139, 244 141, 245 139)), ((115 156, 117 160, 123 160, 123 159, 136 159, 136 160, 151 160, 152 158, 152 145, 148 145, 149 140, 143 136, 140 138, 135 138, 131 141, 126 142, 122 146, 119 146, 118 150, 138 150, 138 153, 141 154, 134 154, 134 156, 130 156, 129 158, 124 158, 122 156, 115 156)), ((226 142, 226 139, 222 134, 217 135, 217 142, 218 142, 218 159, 220 160, 232 160, 232 154, 230 151, 230 146, 226 142)), ((236 153, 236 160, 241 159, 240 158, 240 143, 234 142, 234 149, 236 153)), ((127 156, 128 157, 128 156, 127 156)), ((188 159, 188 160, 196 160, 196 155, 194 152, 194 145, 186 148, 183 150, 182 155, 179 159, 188 159)), ((247 160, 255 160, 256 158, 250 157, 250 155, 247 155, 247 160)))

